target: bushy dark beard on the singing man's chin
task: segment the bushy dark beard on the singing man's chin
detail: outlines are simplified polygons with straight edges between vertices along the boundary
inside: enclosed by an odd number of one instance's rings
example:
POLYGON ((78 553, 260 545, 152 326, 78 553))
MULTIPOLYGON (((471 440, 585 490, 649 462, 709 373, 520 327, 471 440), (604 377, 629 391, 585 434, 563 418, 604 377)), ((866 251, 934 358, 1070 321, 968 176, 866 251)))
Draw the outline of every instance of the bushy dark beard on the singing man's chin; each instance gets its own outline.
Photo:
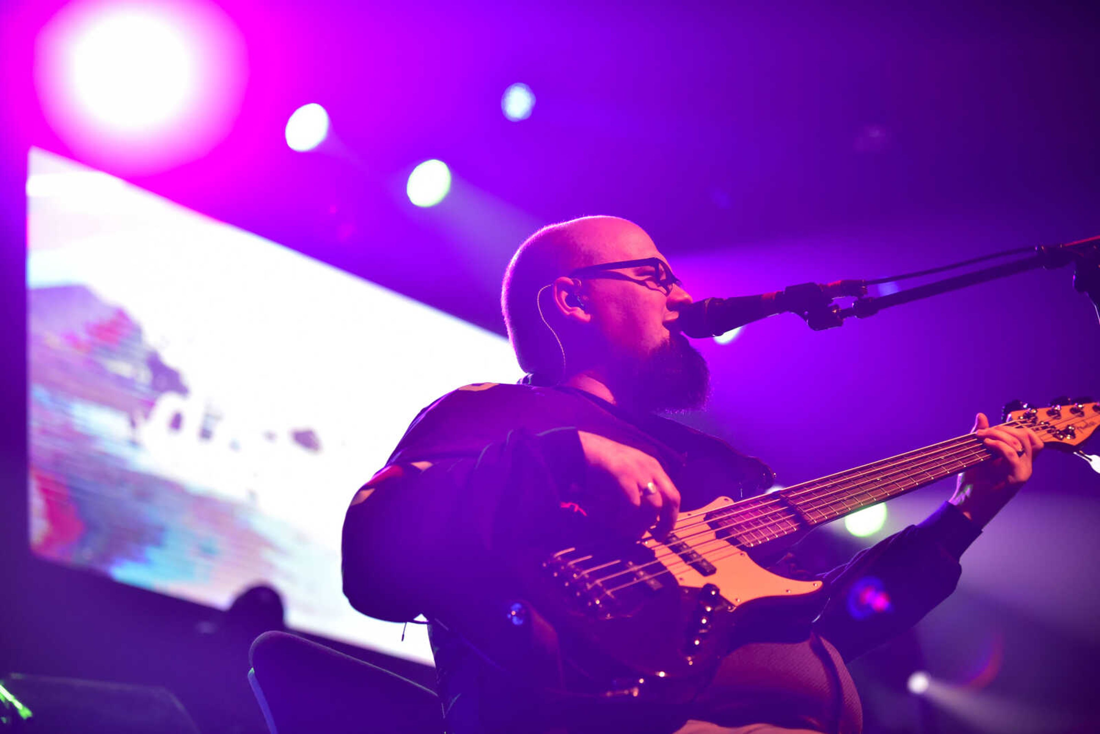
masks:
POLYGON ((675 413, 694 410, 711 394, 706 360, 678 332, 641 360, 624 364, 625 403, 637 410, 675 413))

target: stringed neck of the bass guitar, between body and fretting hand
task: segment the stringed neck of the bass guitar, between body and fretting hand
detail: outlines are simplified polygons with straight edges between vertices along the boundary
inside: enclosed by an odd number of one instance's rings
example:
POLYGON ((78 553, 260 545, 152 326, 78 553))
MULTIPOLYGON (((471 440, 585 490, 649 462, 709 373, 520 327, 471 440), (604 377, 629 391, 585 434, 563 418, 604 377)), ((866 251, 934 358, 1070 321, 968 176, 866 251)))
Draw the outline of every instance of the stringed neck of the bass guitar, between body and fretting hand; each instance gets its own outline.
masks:
POLYGON ((989 460, 972 434, 735 502, 711 519, 747 548, 832 522, 989 460))

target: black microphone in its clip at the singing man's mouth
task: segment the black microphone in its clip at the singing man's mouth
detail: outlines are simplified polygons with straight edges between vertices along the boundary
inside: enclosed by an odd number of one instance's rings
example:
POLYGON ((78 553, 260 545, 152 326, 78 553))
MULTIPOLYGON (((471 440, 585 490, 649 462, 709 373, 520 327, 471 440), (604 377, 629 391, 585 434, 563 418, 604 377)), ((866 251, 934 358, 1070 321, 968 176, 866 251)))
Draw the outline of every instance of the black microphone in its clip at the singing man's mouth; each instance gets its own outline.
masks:
POLYGON ((689 337, 705 339, 790 311, 804 318, 811 328, 821 330, 843 324, 839 308, 833 305, 834 298, 866 295, 866 281, 801 283, 757 296, 696 300, 680 309, 676 321, 680 330, 689 337))

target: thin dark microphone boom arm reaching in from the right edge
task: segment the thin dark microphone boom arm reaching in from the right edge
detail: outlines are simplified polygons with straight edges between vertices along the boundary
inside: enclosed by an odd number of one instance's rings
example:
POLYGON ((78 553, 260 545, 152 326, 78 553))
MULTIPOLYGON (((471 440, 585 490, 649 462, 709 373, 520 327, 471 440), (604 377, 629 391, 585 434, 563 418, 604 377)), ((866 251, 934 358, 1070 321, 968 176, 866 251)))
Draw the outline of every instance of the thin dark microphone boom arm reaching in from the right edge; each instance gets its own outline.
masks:
POLYGON ((844 324, 844 319, 849 316, 856 318, 867 318, 878 314, 883 308, 908 304, 913 300, 928 298, 958 291, 978 283, 994 281, 1015 273, 1045 267, 1053 270, 1074 263, 1074 289, 1078 293, 1088 294, 1092 299, 1092 306, 1097 311, 1097 319, 1100 321, 1100 237, 1092 237, 1067 244, 1043 245, 1035 248, 1035 254, 1024 260, 1012 263, 986 267, 965 275, 936 281, 926 285, 916 286, 906 291, 900 291, 887 296, 861 296, 848 308, 839 308, 831 303, 831 299, 817 299, 810 304, 810 307, 800 315, 806 320, 812 329, 822 330, 838 327, 844 324))

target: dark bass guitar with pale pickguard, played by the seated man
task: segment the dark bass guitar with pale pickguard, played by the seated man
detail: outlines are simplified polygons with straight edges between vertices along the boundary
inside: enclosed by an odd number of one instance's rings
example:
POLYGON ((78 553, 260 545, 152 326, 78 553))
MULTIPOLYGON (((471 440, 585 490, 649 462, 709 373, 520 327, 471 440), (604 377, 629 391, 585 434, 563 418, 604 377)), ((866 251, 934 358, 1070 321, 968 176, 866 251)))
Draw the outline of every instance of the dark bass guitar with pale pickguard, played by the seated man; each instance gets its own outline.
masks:
MULTIPOLYGON (((1096 402, 1015 407, 1002 425, 1031 428, 1055 448, 1075 450, 1100 425, 1096 402)), ((556 631, 580 695, 686 702, 747 620, 822 590, 757 565, 757 549, 996 456, 968 434, 749 500, 718 497, 682 513, 663 540, 571 547, 534 563, 526 599, 507 614, 517 627, 540 621, 556 631)))

